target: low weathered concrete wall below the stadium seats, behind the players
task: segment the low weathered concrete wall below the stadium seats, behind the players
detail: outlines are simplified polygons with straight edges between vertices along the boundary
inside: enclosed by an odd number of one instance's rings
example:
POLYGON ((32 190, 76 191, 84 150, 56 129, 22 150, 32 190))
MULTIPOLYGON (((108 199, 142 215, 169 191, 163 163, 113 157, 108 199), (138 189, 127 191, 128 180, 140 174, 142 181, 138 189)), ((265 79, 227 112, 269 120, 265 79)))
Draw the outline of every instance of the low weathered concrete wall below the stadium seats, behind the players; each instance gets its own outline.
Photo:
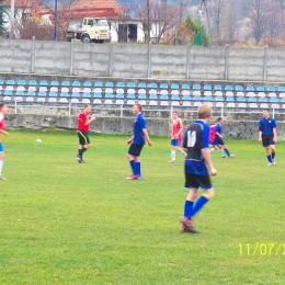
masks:
MULTIPOLYGON (((169 136, 170 119, 169 118, 147 118, 147 128, 151 135, 169 136)), ((192 119, 184 119, 184 125, 192 123, 192 119)), ((133 117, 98 117, 91 124, 91 132, 101 132, 104 134, 132 134, 133 117)), ((76 129, 77 116, 59 116, 59 115, 27 115, 27 114, 9 114, 7 116, 7 125, 11 128, 27 129, 76 129)), ((227 138, 237 139, 256 139, 258 122, 255 121, 227 121, 223 127, 227 138)), ((285 123, 278 123, 278 139, 285 140, 285 123)))

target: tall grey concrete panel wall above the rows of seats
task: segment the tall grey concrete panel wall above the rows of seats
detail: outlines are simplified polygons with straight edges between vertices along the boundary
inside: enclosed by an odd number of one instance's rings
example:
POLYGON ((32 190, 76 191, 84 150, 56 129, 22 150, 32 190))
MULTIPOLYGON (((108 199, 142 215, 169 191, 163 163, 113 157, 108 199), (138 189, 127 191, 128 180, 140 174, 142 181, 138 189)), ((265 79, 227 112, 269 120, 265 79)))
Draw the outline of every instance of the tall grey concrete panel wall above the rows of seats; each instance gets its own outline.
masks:
POLYGON ((0 72, 164 80, 285 80, 285 49, 0 41, 0 72))

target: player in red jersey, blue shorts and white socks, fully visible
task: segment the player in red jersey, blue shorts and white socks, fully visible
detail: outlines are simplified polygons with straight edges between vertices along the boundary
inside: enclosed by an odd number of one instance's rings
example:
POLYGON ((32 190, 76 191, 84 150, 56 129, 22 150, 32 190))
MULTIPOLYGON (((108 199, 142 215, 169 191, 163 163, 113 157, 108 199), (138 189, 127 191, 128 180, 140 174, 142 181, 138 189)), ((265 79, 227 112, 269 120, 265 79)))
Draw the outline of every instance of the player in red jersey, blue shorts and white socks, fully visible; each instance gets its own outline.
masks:
POLYGON ((186 152, 180 147, 182 140, 182 130, 183 124, 182 119, 179 118, 179 114, 176 111, 173 112, 173 119, 171 121, 172 124, 172 132, 171 132, 171 160, 169 162, 175 162, 175 148, 185 157, 187 156, 186 152))

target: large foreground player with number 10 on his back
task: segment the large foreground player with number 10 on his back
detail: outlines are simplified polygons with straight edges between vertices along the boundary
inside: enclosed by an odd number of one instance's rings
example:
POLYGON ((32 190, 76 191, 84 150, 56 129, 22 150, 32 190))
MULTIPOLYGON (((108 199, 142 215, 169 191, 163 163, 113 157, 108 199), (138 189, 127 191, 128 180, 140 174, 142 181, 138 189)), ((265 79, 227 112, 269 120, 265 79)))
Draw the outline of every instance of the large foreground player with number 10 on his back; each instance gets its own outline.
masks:
POLYGON ((208 151, 209 126, 207 122, 212 113, 210 106, 206 104, 200 106, 198 119, 191 124, 184 134, 183 149, 187 153, 185 159, 185 187, 189 189, 189 195, 184 205, 184 216, 181 218, 182 232, 201 232, 194 228, 193 217, 215 196, 208 174, 209 171, 213 176, 217 175, 217 170, 212 163, 208 151), (203 190, 203 195, 197 198, 200 187, 203 190))

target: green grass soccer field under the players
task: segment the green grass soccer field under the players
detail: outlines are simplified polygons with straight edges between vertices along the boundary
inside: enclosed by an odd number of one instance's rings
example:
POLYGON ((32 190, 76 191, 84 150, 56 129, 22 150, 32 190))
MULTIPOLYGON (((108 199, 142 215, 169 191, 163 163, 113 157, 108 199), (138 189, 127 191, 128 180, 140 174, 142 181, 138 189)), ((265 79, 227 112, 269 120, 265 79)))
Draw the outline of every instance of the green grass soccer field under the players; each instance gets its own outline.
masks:
POLYGON ((127 138, 91 135, 87 164, 75 133, 4 138, 0 284, 285 284, 285 142, 271 168, 258 141, 228 140, 235 159, 216 151, 216 197, 190 235, 182 155, 168 163, 169 138, 152 137, 144 180, 126 181, 127 138))

